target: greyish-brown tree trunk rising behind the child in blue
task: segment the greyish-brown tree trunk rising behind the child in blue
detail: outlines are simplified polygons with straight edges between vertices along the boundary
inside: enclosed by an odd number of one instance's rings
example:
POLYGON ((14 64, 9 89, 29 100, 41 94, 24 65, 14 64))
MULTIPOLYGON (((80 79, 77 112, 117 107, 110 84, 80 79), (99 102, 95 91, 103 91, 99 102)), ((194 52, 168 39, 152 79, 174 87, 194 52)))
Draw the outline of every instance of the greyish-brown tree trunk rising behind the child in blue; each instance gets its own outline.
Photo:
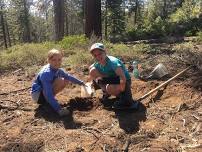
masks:
POLYGON ((55 40, 60 41, 64 36, 64 0, 53 0, 55 40))

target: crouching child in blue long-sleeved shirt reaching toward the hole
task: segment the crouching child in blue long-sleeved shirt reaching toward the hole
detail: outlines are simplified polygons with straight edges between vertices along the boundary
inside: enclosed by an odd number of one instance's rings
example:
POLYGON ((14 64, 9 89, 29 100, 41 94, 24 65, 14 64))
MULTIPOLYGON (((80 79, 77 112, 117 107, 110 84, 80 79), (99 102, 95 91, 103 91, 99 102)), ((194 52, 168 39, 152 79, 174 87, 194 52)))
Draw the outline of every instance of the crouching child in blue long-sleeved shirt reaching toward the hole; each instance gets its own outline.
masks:
POLYGON ((38 104, 48 102, 60 115, 68 115, 67 109, 62 109, 55 95, 62 91, 70 82, 85 85, 83 81, 63 71, 60 66, 63 54, 61 51, 52 49, 48 52, 48 64, 37 74, 32 84, 31 95, 38 104))

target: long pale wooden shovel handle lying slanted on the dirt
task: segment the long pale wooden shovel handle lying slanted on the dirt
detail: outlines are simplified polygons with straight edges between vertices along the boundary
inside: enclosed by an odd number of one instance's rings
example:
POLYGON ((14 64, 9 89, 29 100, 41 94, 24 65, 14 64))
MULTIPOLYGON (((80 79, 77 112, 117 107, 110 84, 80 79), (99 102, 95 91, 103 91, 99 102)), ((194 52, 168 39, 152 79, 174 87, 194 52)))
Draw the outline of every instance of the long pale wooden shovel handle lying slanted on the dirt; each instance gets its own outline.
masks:
POLYGON ((175 78, 179 77, 180 75, 182 75, 184 72, 186 72, 187 70, 189 70, 192 66, 187 67, 186 69, 182 70, 181 72, 179 72, 178 74, 176 74, 175 76, 173 76, 172 78, 168 79, 167 81, 165 81, 164 83, 160 84, 159 86, 157 86, 156 88, 152 89, 151 91, 149 91, 148 93, 146 93, 145 95, 143 95, 142 97, 140 97, 137 101, 141 101, 143 99, 145 99, 146 97, 148 97, 150 94, 152 94, 153 92, 159 90, 160 88, 162 88, 163 86, 167 85, 169 82, 171 82, 172 80, 174 80, 175 78))

